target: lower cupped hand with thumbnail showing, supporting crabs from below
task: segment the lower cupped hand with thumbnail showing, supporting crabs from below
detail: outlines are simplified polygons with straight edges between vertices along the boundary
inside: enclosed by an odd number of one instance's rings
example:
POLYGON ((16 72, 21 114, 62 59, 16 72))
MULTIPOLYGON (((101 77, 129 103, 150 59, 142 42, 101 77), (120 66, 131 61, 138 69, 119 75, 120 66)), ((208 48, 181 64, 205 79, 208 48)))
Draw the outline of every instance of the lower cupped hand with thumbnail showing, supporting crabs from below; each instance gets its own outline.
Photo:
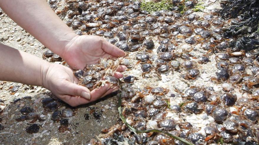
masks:
POLYGON ((71 69, 60 64, 50 64, 42 71, 42 86, 71 106, 86 104, 117 91, 110 84, 89 91, 77 85, 78 81, 71 69))

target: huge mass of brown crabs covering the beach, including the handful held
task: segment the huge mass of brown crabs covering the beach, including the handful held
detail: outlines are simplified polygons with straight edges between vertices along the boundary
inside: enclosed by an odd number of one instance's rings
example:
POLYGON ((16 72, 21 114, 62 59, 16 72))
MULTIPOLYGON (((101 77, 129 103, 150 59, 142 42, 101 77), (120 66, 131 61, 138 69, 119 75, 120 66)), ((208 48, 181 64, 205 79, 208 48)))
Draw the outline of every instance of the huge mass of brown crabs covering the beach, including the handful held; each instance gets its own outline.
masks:
MULTIPOLYGON (((49 1, 54 10, 56 3, 49 1)), ((75 70, 79 84, 119 87, 122 115, 138 130, 159 129, 197 145, 257 144, 259 63, 247 46, 254 48, 258 35, 240 39, 248 28, 229 32, 240 20, 226 21, 218 9, 195 12, 197 1, 170 3, 171 10, 149 13, 140 1, 69 0, 56 10, 78 35, 104 37, 128 53, 75 70), (121 81, 113 77, 119 65, 128 67, 121 81)), ((61 59, 50 51, 44 57, 61 59)), ((121 120, 99 139, 89 144, 183 144, 164 133, 134 134, 121 120)))

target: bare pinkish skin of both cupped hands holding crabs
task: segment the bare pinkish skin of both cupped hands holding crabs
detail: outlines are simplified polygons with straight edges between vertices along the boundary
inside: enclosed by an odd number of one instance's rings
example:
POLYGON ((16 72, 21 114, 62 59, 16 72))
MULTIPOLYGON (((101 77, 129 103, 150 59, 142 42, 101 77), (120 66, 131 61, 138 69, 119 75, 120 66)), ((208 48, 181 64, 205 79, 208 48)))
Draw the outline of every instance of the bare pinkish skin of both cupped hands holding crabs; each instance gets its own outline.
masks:
MULTIPOLYGON (((124 51, 102 37, 76 35, 66 45, 61 57, 66 60, 70 67, 73 66, 73 69, 83 69, 86 64, 97 64, 102 57, 116 58, 125 55, 124 51)), ((126 66, 119 66, 114 76, 122 78, 123 75, 120 72, 126 68, 126 66)), ((42 80, 43 86, 71 106, 86 104, 117 91, 117 89, 112 89, 110 84, 105 84, 90 92, 86 87, 75 84, 79 80, 75 78, 71 69, 61 65, 51 65, 48 70, 47 73, 43 73, 46 74, 46 79, 42 80)))

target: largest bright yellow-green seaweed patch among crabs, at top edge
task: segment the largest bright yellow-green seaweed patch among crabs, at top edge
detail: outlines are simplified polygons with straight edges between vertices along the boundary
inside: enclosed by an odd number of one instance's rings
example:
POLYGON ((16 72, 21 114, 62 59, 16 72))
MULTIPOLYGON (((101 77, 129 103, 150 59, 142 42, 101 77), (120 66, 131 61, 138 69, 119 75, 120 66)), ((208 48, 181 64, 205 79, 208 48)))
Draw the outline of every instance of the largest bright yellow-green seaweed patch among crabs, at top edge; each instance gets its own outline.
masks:
POLYGON ((160 2, 148 1, 148 2, 142 2, 140 5, 140 8, 142 10, 146 10, 149 13, 160 11, 160 10, 172 10, 173 7, 174 5, 170 0, 162 0, 160 2))

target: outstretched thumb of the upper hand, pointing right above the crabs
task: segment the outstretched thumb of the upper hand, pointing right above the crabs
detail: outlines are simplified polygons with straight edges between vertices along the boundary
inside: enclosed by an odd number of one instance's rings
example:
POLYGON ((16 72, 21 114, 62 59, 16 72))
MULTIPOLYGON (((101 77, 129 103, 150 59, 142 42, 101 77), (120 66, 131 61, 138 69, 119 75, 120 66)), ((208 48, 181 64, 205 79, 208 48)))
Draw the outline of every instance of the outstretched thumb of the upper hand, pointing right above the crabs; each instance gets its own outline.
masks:
POLYGON ((101 39, 101 41, 102 41, 102 50, 104 50, 104 52, 114 57, 124 57, 126 55, 126 53, 123 50, 119 49, 115 45, 112 45, 108 41, 104 39, 101 39))

